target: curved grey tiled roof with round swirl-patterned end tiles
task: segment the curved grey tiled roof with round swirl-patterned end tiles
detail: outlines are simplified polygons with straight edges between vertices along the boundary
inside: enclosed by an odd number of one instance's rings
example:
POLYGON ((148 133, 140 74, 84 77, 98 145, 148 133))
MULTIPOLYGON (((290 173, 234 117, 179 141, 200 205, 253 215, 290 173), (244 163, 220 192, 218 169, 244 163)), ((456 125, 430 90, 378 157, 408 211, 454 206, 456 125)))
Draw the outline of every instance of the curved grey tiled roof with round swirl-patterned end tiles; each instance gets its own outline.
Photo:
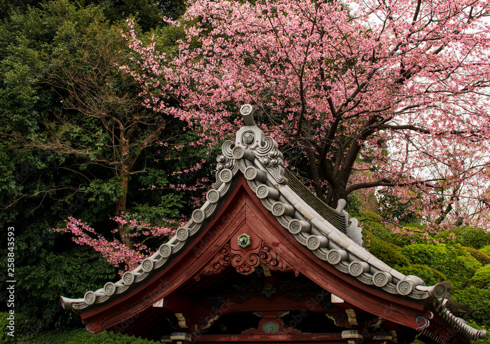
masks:
MULTIPOLYGON (((63 308, 83 314, 144 284, 148 276, 161 270, 205 227, 219 209, 220 200, 227 197, 236 181, 235 176, 243 174, 248 187, 270 214, 289 231, 292 238, 320 260, 386 295, 423 301, 431 314, 437 314, 441 321, 468 339, 486 335, 486 331, 472 328, 446 308, 450 299, 447 282, 426 286, 421 278, 404 275, 369 253, 363 247, 359 222, 350 218, 343 209, 345 200, 341 199, 333 209, 313 195, 293 172, 284 167, 277 143, 253 122, 251 106, 244 105, 241 113, 246 125, 237 132, 235 142, 223 143, 222 154, 217 158, 216 182, 207 192, 206 202, 193 211, 191 219, 140 266, 124 272, 119 281, 107 282, 96 291, 87 291, 83 298, 62 296, 63 308)), ((417 330, 441 342, 437 336, 427 332, 428 323, 429 319, 423 318, 417 330)))

